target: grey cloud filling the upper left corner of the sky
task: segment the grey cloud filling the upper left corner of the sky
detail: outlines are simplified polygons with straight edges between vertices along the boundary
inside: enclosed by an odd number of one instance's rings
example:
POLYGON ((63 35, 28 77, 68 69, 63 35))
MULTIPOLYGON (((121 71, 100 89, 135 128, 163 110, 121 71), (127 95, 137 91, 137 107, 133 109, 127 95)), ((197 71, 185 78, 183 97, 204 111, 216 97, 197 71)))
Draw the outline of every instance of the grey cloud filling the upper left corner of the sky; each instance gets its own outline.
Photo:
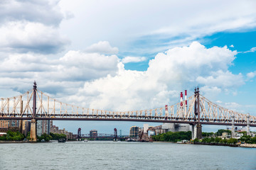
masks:
POLYGON ((0 2, 0 23, 9 21, 29 21, 58 26, 64 15, 58 7, 59 1, 18 1, 8 0, 0 2))

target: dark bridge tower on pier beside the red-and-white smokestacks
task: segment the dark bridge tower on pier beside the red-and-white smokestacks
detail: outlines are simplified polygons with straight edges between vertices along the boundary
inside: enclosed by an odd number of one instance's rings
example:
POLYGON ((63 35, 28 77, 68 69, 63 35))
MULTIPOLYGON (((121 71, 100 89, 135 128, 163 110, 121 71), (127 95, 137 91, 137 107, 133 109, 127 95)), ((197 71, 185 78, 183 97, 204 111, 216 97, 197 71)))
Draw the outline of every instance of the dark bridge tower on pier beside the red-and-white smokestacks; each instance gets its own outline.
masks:
POLYGON ((195 88, 195 105, 194 105, 194 113, 196 115, 196 124, 192 125, 192 138, 202 139, 202 124, 200 122, 200 98, 199 98, 199 87, 195 88), (196 126, 196 127, 195 127, 196 126))

